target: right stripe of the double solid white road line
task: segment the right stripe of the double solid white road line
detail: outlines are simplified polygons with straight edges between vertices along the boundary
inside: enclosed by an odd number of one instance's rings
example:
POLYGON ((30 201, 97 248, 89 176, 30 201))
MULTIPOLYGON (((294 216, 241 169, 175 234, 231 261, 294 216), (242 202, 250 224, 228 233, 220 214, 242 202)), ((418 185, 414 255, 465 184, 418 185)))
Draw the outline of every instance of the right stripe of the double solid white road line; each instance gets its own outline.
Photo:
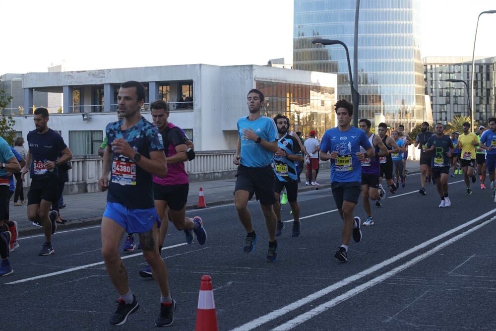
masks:
POLYGON ((383 274, 369 280, 368 282, 349 290, 348 292, 345 292, 341 295, 338 295, 334 299, 329 300, 329 301, 309 310, 308 312, 298 316, 297 318, 290 320, 290 321, 288 321, 288 322, 286 322, 286 323, 284 323, 284 324, 282 324, 282 325, 280 325, 277 328, 274 328, 272 330, 274 330, 274 331, 291 330, 294 327, 296 327, 296 326, 310 320, 311 318, 317 316, 318 314, 325 312, 329 308, 332 308, 332 307, 340 304, 341 302, 348 300, 349 298, 371 288, 372 286, 383 282, 384 280, 386 280, 386 279, 394 276, 395 274, 407 269, 408 267, 415 265, 415 264, 421 262, 422 260, 431 257, 434 253, 440 251, 441 249, 445 248, 448 245, 451 245, 452 243, 460 240, 461 238, 471 234, 472 232, 479 230, 481 227, 490 224, 495 219, 496 219, 496 217, 493 217, 487 221, 484 221, 483 223, 476 225, 473 228, 471 228, 471 229, 469 229, 463 233, 460 233, 459 235, 457 235, 457 236, 455 236, 455 237, 453 237, 453 238, 451 238, 445 242, 442 242, 441 244, 435 246, 433 249, 427 251, 426 253, 424 253, 422 255, 419 255, 419 256, 413 258, 412 260, 404 263, 403 265, 399 265, 399 266, 395 267, 394 269, 392 269, 386 273, 383 273, 383 274))

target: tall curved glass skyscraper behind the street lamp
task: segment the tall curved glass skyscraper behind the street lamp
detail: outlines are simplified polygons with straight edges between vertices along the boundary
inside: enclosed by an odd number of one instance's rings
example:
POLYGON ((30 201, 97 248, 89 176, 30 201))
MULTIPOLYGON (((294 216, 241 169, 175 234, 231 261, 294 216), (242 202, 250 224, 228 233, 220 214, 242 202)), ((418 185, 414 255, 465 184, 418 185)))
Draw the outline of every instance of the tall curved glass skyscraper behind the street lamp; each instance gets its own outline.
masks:
MULTIPOLYGON (((352 101, 346 52, 353 68, 356 0, 295 0, 293 68, 338 74, 338 99, 352 101)), ((420 0, 361 1, 358 30, 359 118, 384 116, 391 128, 411 130, 426 119, 420 56, 420 0)), ((356 109, 356 106, 355 106, 356 109)), ((378 117, 381 118, 381 117, 378 117)))

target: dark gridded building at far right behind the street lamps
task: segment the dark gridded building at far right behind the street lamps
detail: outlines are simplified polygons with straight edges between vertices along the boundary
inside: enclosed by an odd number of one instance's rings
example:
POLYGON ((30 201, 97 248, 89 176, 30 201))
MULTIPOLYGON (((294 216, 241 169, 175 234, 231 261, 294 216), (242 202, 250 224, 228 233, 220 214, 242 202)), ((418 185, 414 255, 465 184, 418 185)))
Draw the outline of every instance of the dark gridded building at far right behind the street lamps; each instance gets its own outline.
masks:
MULTIPOLYGON (((431 99, 434 122, 446 124, 455 117, 470 117, 472 57, 424 58, 425 93, 431 99), (458 79, 463 82, 447 82, 458 79)), ((496 113, 496 57, 476 58, 474 123, 487 124, 496 113)))

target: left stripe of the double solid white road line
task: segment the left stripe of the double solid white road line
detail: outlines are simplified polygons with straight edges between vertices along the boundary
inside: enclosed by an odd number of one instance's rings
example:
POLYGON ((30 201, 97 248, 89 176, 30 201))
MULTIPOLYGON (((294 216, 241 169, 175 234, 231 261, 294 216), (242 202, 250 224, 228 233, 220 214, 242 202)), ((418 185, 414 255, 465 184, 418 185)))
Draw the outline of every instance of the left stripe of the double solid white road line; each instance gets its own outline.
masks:
POLYGON ((413 253, 435 243, 436 241, 439 241, 439 240, 441 240, 441 239, 443 239, 443 238, 445 238, 445 237, 447 237, 447 236, 449 236, 449 235, 451 235, 451 234, 453 234, 453 233, 455 233, 455 232, 457 232, 457 231, 459 231, 459 230, 461 230, 467 226, 470 226, 476 222, 479 222, 481 219, 484 219, 485 217, 488 217, 489 215, 494 214, 495 212, 496 212, 496 210, 488 211, 488 212, 486 212, 486 213, 484 213, 484 214, 482 214, 482 215, 480 215, 480 216, 478 216, 478 217, 476 217, 476 218, 474 218, 474 219, 472 219, 472 220, 470 220, 464 224, 457 226, 456 228, 453 228, 449 231, 446 231, 446 232, 444 232, 444 233, 442 233, 442 234, 440 234, 440 235, 438 235, 438 236, 436 236, 436 237, 434 237, 428 241, 425 241, 425 242, 423 242, 423 243, 421 243, 421 244, 419 244, 419 245, 417 245, 417 246, 415 246, 409 250, 406 250, 403 253, 400 253, 400 254, 392 257, 392 258, 389 258, 389 259, 387 259, 387 260, 385 260, 385 261, 383 261, 377 265, 372 265, 371 267, 369 267, 369 268, 367 268, 367 269, 365 269, 359 273, 356 273, 356 274, 351 275, 347 278, 344 278, 344 279, 338 281, 337 283, 329 285, 329 286, 327 286, 327 287, 325 287, 325 288, 323 288, 323 289, 321 289, 315 293, 312 293, 312 294, 306 296, 305 298, 302 298, 302 299, 297 300, 293 303, 290 303, 289 305, 286 305, 282 308, 276 309, 276 310, 268 313, 267 315, 260 316, 259 318, 256 318, 256 319, 252 320, 251 322, 248 322, 248 323, 246 323, 246 324, 244 324, 244 325, 242 325, 236 329, 233 329, 233 331, 253 330, 253 329, 258 328, 259 326, 261 326, 267 322, 270 322, 276 318, 279 318, 279 317, 285 315, 288 312, 291 312, 291 311, 296 310, 296 309, 300 309, 303 305, 306 305, 306 304, 308 304, 308 303, 310 303, 310 302, 312 302, 312 301, 314 301, 314 300, 316 300, 316 299, 318 299, 324 295, 327 295, 327 294, 331 293, 332 291, 334 291, 340 287, 348 285, 353 281, 356 281, 360 278, 368 276, 369 274, 371 274, 371 273, 373 273, 373 272, 375 272, 375 271, 377 271, 377 270, 379 270, 379 269, 381 269, 387 265, 393 264, 393 263, 407 257, 408 255, 413 254, 413 253))

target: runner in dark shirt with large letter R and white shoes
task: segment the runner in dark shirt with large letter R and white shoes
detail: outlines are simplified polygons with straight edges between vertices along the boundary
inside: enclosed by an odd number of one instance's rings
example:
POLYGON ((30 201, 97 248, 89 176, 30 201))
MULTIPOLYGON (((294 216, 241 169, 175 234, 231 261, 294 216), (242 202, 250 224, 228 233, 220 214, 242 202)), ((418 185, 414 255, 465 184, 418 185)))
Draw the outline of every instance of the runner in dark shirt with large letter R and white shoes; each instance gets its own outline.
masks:
POLYGON ((444 134, 441 123, 435 125, 435 134, 427 140, 426 151, 432 152, 433 177, 437 187, 437 193, 441 197, 439 208, 449 207, 451 201, 448 198, 448 175, 449 157, 453 153, 454 146, 451 138, 444 134))

